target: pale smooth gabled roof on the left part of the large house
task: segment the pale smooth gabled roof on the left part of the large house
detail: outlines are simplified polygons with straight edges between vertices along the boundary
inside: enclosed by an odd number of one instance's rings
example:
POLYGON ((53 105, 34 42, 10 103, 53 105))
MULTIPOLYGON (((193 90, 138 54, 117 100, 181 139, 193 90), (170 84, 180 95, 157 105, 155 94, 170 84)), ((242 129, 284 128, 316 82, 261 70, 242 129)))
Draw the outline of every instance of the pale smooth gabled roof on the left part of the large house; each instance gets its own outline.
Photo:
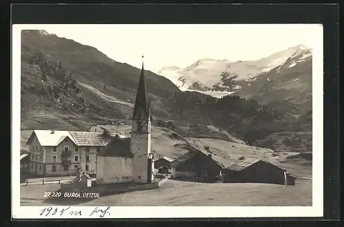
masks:
POLYGON ((72 140, 74 144, 76 144, 69 131, 54 131, 54 133, 52 133, 52 130, 34 130, 26 144, 32 140, 33 135, 36 135, 41 146, 58 146, 58 144, 60 144, 67 137, 72 140))

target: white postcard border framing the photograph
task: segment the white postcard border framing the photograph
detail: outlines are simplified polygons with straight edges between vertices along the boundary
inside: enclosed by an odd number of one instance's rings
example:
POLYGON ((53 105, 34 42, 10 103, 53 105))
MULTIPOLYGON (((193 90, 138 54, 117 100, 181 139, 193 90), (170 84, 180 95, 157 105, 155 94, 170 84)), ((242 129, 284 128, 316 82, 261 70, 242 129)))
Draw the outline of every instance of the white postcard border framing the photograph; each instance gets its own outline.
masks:
MULTIPOLYGON (((20 206, 20 113, 21 113, 21 30, 40 30, 48 25, 12 25, 12 217, 15 219, 102 218, 92 215, 92 206, 72 206, 82 215, 41 216, 44 206, 20 206)), ((166 26, 166 25, 164 25, 166 26)), ((283 26, 283 25, 282 25, 283 26)), ((313 168, 312 206, 111 206, 103 218, 182 217, 321 217, 323 216, 323 25, 314 36, 312 60, 313 168), (314 168, 316 166, 316 168, 314 168)), ((231 196, 228 194, 228 196, 231 196)), ((54 206, 54 209, 67 206, 54 206)), ((99 208, 106 208, 100 206, 99 208)))

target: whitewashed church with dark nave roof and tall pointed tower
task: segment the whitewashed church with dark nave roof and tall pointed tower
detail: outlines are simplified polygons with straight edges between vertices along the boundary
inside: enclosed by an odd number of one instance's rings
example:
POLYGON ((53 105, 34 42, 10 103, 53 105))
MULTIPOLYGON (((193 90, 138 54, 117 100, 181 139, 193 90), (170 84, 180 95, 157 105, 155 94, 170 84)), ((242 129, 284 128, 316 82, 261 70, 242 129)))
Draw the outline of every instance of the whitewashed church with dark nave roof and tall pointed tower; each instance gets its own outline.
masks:
POLYGON ((110 136, 96 157, 96 184, 122 182, 152 183, 154 161, 151 153, 151 107, 147 98, 144 66, 138 83, 131 118, 131 136, 110 136))

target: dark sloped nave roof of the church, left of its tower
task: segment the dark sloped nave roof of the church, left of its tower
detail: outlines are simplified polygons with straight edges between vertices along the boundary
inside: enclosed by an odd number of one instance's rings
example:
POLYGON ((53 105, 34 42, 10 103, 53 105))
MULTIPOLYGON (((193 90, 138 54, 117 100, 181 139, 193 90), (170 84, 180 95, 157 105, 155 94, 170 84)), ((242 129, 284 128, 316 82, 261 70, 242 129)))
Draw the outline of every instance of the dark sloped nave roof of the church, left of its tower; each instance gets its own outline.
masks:
POLYGON ((99 156, 114 156, 114 157, 133 157, 130 151, 130 137, 115 136, 111 141, 100 150, 99 156))

